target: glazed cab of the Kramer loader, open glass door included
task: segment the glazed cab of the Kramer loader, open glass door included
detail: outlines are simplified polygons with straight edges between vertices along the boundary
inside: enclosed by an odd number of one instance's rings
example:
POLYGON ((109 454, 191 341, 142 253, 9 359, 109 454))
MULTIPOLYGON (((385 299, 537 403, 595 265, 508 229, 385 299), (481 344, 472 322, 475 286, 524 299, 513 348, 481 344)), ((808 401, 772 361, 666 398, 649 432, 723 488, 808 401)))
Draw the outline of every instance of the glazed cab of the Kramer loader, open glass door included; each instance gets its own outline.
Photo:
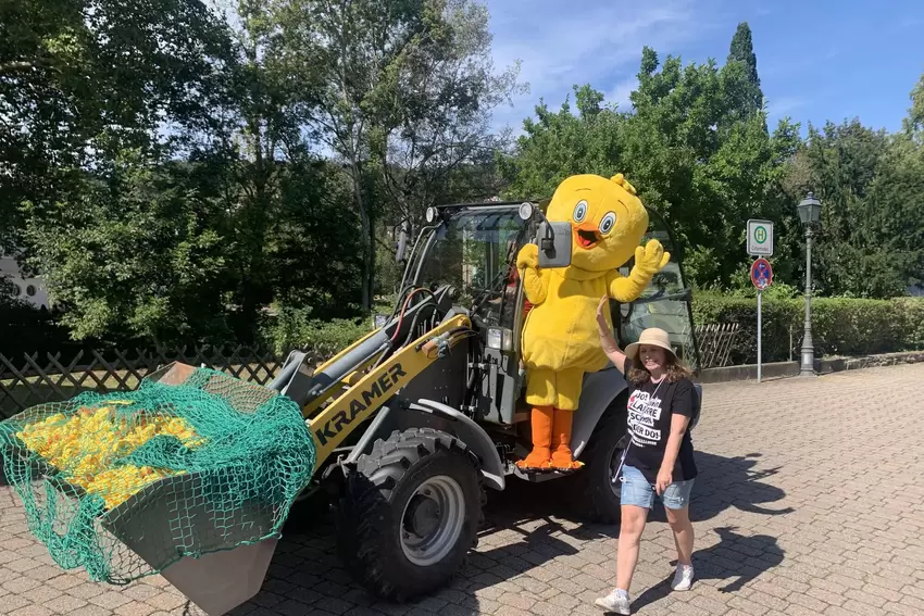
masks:
MULTIPOLYGON (((536 241, 541 216, 524 219, 521 205, 517 201, 430 209, 428 225, 411 250, 402 285, 404 289, 424 287, 442 292, 437 318, 453 312, 470 316, 478 336, 467 345, 467 366, 442 370, 447 375, 461 370, 467 378, 458 390, 447 384, 446 402, 478 420, 501 426, 515 424, 526 411, 520 342, 532 306, 523 292, 516 254, 525 243, 536 241)), ((545 203, 534 205, 544 209, 545 203)), ((679 247, 664 219, 649 210, 649 229, 642 242, 653 238, 664 244, 671 261, 641 298, 626 304, 611 302, 616 336, 625 348, 638 340, 645 328, 661 327, 671 335, 677 355, 698 372, 690 289, 679 247)), ((632 265, 623 267, 624 275, 632 265)))

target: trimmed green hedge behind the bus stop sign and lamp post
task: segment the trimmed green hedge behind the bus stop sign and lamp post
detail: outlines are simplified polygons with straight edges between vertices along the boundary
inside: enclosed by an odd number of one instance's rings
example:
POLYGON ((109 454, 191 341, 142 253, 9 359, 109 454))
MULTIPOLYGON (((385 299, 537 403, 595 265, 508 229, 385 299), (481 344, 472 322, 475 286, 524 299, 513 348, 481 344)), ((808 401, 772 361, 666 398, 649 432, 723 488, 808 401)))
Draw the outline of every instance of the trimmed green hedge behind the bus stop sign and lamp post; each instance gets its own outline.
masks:
MULTIPOLYGON (((729 357, 733 364, 757 362, 757 299, 696 294, 697 325, 738 323, 740 330, 729 357)), ((802 345, 806 318, 803 299, 769 299, 762 305, 763 361, 792 357, 802 345)), ((924 298, 864 300, 812 299, 812 339, 816 356, 867 355, 924 349, 924 298)))

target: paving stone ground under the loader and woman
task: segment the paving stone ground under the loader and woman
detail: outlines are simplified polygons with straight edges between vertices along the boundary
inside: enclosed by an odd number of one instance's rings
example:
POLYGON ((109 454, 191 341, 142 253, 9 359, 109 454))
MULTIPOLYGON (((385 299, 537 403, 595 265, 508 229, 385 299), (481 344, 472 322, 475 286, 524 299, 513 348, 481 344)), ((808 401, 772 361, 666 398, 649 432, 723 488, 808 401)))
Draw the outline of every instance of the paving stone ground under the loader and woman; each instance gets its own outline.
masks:
MULTIPOLYGON (((924 364, 704 387, 694 433, 697 582, 671 593, 663 512, 642 538, 634 613, 924 614, 924 364)), ((375 602, 340 568, 327 519, 280 541, 261 593, 234 615, 599 614, 616 528, 561 513, 548 487, 489 494, 487 528, 451 586, 375 602), (550 513, 551 512, 551 513, 550 513)), ((0 486, 0 614, 195 614, 163 578, 125 588, 64 573, 0 486)))

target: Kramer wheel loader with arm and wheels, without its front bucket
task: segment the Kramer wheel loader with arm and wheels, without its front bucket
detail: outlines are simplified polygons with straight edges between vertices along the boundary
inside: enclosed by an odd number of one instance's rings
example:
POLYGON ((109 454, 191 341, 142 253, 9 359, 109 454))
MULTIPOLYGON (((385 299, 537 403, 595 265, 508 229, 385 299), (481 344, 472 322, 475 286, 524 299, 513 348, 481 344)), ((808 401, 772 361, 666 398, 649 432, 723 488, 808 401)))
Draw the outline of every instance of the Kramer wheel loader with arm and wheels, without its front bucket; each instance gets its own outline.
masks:
MULTIPOLYGON (((548 222, 547 205, 429 208, 416 240, 402 230, 397 242, 405 265, 391 314, 320 366, 291 353, 269 386, 302 407, 317 454, 303 494, 333 495, 342 561, 375 595, 402 601, 446 584, 476 542, 486 492, 511 480, 560 481, 585 515, 619 519, 627 387, 612 365, 585 377, 571 442, 584 466, 515 465, 532 442, 520 359, 530 306, 516 253, 535 242, 540 267, 571 257, 571 229, 548 222)), ((637 301, 611 302, 614 332, 625 348, 646 327, 661 327, 696 373, 680 247, 657 212, 649 219, 646 238, 661 241, 671 262, 637 301)))

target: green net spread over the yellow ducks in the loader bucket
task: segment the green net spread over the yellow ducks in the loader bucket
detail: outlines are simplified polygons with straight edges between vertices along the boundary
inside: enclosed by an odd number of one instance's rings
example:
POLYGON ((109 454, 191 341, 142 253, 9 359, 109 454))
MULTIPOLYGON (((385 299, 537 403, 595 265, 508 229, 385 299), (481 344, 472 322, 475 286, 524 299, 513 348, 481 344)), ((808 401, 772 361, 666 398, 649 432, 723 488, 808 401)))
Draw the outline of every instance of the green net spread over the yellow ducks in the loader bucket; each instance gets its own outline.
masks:
POLYGON ((279 537, 315 456, 294 401, 204 368, 34 406, 0 423, 0 450, 54 562, 115 584, 279 537))

